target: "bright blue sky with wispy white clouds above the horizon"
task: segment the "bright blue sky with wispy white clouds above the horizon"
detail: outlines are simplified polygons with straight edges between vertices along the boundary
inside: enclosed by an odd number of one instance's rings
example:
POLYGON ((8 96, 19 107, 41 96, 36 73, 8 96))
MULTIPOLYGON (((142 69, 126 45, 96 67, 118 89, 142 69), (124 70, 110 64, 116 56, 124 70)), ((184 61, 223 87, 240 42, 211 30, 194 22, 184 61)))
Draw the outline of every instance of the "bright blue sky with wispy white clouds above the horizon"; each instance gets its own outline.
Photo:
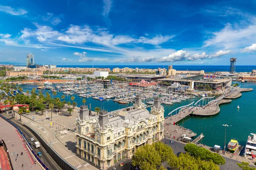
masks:
POLYGON ((1 0, 0 62, 256 65, 256 0, 1 0))

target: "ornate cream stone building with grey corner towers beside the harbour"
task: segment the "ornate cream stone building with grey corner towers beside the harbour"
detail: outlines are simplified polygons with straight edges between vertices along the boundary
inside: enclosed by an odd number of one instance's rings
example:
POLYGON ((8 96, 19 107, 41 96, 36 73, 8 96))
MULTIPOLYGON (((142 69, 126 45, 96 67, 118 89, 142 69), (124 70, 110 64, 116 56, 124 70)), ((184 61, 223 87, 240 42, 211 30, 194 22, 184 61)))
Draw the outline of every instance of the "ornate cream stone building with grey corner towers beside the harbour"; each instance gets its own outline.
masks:
POLYGON ((91 115, 84 105, 76 129, 77 155, 106 170, 116 161, 131 159, 137 147, 163 139, 164 108, 156 97, 149 112, 140 95, 134 106, 119 111, 117 116, 107 111, 91 115))

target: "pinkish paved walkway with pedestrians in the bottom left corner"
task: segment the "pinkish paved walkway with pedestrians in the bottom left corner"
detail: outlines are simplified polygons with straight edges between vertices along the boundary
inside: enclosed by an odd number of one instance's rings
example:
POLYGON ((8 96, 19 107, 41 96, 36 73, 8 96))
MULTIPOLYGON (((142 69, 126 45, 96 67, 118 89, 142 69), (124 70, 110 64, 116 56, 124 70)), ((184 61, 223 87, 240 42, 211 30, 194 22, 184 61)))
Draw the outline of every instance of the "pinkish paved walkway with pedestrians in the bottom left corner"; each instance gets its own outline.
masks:
POLYGON ((13 127, 9 122, 6 122, 4 119, 0 118, 0 138, 6 142, 8 152, 11 157, 12 166, 15 167, 15 170, 42 170, 42 167, 39 164, 32 164, 29 157, 26 154, 17 133, 15 132, 16 128, 13 127), (12 146, 12 143, 14 146, 12 146), (20 153, 23 152, 21 156, 20 153), (17 157, 18 154, 18 157, 17 157), (17 157, 17 161, 15 158, 17 157), (21 165, 24 165, 24 168, 21 165))

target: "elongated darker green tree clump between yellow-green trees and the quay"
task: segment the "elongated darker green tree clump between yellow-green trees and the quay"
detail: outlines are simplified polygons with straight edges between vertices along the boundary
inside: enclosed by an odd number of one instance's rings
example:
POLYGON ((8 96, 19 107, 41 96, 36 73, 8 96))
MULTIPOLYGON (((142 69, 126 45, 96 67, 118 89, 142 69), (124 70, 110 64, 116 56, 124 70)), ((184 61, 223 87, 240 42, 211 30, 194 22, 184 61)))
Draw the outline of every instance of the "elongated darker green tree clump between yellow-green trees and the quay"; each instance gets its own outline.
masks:
POLYGON ((218 153, 212 153, 209 150, 203 147, 198 147, 195 144, 186 144, 186 146, 184 146, 184 150, 196 158, 199 157, 201 160, 213 161, 215 164, 225 164, 225 159, 218 155, 218 153))

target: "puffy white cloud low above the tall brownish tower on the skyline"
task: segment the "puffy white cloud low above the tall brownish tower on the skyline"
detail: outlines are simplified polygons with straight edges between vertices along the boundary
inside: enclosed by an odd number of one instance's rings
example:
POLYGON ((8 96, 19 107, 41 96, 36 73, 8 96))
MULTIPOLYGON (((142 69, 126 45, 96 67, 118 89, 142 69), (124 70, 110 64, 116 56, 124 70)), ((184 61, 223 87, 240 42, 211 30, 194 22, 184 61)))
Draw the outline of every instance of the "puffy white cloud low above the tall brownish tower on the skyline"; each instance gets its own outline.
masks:
POLYGON ((157 62, 175 62, 175 61, 183 61, 188 56, 188 53, 183 50, 179 50, 177 52, 174 52, 170 54, 167 57, 162 57, 157 60, 157 62))

